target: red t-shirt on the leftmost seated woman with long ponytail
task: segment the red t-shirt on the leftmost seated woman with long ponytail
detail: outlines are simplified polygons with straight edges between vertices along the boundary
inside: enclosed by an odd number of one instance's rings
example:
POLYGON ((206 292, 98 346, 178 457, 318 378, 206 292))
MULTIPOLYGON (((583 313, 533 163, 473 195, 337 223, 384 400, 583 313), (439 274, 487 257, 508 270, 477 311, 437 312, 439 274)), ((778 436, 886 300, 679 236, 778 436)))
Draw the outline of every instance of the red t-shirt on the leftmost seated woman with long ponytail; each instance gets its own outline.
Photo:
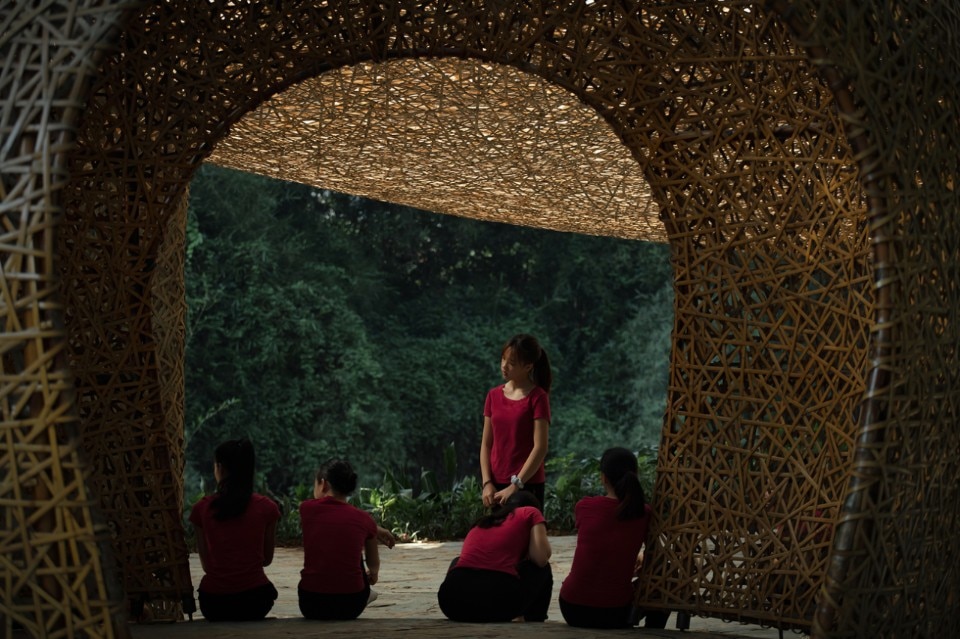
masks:
POLYGON ((210 510, 213 499, 213 495, 204 497, 190 511, 190 523, 207 547, 207 572, 200 590, 228 594, 269 583, 263 572, 263 542, 267 525, 280 519, 277 504, 254 493, 242 515, 218 521, 210 510))

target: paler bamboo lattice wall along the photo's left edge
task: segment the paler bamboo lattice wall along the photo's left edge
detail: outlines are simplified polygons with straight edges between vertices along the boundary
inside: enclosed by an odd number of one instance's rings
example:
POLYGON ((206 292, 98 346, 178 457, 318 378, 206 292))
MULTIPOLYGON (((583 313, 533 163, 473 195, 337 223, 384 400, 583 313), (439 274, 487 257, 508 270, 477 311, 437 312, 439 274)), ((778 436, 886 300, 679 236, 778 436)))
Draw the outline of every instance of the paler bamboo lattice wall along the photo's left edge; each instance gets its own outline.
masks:
POLYGON ((64 158, 121 12, 0 11, 0 635, 124 636, 72 412, 54 261, 64 158), (19 19, 19 20, 17 20, 19 19))

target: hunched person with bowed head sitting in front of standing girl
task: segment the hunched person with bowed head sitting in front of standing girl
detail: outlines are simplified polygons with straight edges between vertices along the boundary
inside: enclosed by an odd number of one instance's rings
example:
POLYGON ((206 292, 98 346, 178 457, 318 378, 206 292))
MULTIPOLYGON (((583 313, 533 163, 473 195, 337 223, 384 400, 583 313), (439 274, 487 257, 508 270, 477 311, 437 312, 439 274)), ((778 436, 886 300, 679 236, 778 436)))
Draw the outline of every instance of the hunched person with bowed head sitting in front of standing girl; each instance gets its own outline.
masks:
POLYGON ((440 585, 440 610, 472 623, 545 621, 553 594, 550 542, 540 503, 518 491, 482 517, 440 585))

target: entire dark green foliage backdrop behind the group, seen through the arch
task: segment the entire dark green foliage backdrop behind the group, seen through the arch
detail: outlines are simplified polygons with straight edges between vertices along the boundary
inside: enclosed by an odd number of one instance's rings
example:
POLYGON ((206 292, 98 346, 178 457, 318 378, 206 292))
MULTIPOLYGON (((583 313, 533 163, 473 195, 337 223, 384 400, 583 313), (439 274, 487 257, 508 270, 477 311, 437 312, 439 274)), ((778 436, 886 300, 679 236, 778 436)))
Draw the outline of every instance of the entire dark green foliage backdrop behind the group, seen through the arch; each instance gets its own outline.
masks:
POLYGON ((187 231, 188 494, 209 481, 214 447, 241 436, 276 495, 309 485, 333 455, 364 486, 433 494, 426 469, 469 490, 483 398, 517 332, 551 356, 551 457, 657 444, 672 327, 666 246, 213 166, 191 185, 187 231))

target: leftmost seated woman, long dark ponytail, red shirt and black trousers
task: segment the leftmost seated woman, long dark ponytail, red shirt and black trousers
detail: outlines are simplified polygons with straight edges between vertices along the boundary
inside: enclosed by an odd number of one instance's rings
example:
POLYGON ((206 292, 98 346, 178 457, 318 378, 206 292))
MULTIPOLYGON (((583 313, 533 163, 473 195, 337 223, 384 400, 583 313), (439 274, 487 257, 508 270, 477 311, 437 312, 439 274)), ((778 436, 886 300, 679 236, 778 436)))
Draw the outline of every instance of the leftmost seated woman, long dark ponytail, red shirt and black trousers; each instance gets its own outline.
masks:
POLYGON ((263 571, 273 561, 280 509, 253 492, 253 445, 234 439, 214 451, 217 492, 190 511, 203 578, 197 592, 209 621, 263 619, 277 589, 263 571))

